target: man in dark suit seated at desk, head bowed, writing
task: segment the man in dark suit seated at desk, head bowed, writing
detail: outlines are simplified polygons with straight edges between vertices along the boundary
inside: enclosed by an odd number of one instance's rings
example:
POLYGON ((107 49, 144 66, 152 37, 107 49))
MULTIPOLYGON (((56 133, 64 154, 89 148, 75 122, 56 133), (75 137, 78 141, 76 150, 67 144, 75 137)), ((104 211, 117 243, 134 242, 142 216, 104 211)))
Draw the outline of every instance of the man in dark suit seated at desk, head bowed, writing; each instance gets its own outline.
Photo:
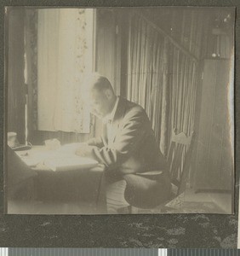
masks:
POLYGON ((87 82, 84 93, 91 113, 102 119, 104 127, 101 137, 89 140, 89 147, 77 149, 76 154, 92 157, 106 166, 108 212, 127 206, 125 199, 137 207, 144 207, 143 201, 151 207, 169 199, 167 161, 158 148, 145 110, 116 96, 109 80, 97 73, 87 82), (132 185, 127 188, 128 198, 125 180, 132 185))

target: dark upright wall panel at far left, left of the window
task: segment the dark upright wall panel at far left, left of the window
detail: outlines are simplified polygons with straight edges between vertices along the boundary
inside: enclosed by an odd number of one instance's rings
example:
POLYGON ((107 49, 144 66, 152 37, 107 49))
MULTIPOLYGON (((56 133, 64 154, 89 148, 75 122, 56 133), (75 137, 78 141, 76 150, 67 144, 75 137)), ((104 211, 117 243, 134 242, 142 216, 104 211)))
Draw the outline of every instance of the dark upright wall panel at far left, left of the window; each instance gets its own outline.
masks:
POLYGON ((24 10, 10 9, 7 38, 7 131, 18 133, 25 142, 24 10))

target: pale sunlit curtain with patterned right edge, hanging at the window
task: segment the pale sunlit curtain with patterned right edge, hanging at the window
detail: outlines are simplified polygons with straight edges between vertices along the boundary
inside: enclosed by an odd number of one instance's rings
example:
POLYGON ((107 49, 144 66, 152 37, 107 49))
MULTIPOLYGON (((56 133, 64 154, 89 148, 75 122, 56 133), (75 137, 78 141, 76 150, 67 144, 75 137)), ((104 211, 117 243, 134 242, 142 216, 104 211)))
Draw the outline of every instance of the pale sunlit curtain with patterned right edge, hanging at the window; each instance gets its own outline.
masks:
POLYGON ((93 23, 93 9, 38 10, 38 130, 89 132, 80 89, 93 71, 93 23))

